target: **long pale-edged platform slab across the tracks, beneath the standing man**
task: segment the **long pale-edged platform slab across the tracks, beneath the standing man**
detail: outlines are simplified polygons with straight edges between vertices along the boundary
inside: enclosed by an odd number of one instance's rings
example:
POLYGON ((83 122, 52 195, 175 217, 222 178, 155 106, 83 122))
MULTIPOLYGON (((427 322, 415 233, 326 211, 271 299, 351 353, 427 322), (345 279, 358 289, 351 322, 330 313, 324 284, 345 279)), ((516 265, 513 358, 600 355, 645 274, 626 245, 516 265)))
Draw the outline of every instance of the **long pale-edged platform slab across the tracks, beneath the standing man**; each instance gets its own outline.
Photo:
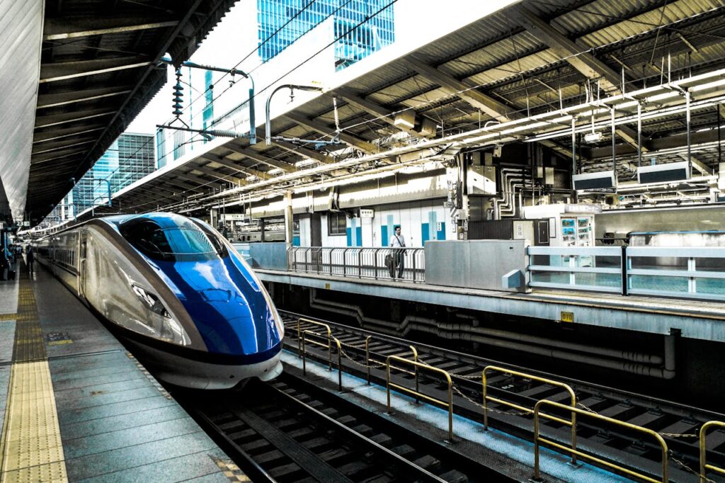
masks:
POLYGON ((577 290, 536 288, 529 293, 461 288, 386 278, 330 273, 256 271, 265 282, 347 294, 457 307, 605 329, 626 329, 706 341, 725 339, 725 302, 674 297, 622 296, 577 290))

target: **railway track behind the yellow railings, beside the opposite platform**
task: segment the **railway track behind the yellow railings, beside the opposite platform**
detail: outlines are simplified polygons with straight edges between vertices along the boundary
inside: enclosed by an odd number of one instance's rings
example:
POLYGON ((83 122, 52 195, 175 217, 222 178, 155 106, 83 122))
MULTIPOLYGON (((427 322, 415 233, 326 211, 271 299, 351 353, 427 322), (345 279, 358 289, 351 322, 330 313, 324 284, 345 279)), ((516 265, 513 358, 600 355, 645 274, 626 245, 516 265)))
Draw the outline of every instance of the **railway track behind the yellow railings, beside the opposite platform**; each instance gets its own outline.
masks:
MULTIPOLYGON (((297 339, 297 320, 302 315, 281 312, 286 324, 286 349, 299 352, 297 339)), ((334 337, 341 342, 341 366, 344 372, 367 378, 375 384, 386 384, 385 368, 382 362, 389 355, 411 359, 414 357, 410 348, 411 342, 396 337, 376 334, 363 329, 345 326, 338 323, 323 321, 331 326, 334 337), (365 339, 368 340, 369 360, 365 354, 365 339), (368 368, 369 366, 369 368, 368 368)), ((302 330, 309 334, 320 333, 320 326, 303 322, 302 330)), ((413 344, 418 353, 418 360, 436 368, 448 371, 455 386, 455 413, 474 421, 484 421, 482 409, 481 371, 486 366, 502 366, 494 360, 486 360, 452 350, 431 347, 426 344, 413 344)), ((307 358, 328 363, 330 354, 326 347, 307 344, 307 358)), ((333 353, 333 365, 336 366, 336 349, 333 353)), ((725 415, 682 405, 646 395, 637 395, 611 387, 589 384, 585 381, 568 379, 548 373, 531 371, 503 365, 510 371, 535 376, 537 378, 568 384, 576 395, 576 406, 591 413, 615 418, 636 426, 651 429, 660 434, 668 447, 669 479, 673 482, 699 482, 699 439, 698 432, 706 421, 725 421, 725 415)), ((410 374, 402 374, 410 380, 410 374)), ((434 397, 443 398, 447 387, 439 380, 418 375, 421 392, 434 397)), ((497 400, 510 402, 518 408, 512 408, 496 402, 488 403, 489 425, 503 432, 526 439, 533 439, 533 417, 526 408, 533 408, 538 400, 548 399, 563 404, 571 404, 571 397, 566 390, 546 381, 526 376, 515 376, 507 371, 491 371, 486 382, 487 393, 497 400), (523 410, 521 408, 524 408, 523 410)), ((560 413, 560 417, 568 417, 560 413)), ((570 428, 556 421, 543 420, 542 432, 555 439, 566 442, 571 438, 570 428)), ((645 474, 657 476, 662 472, 661 450, 655 439, 643 438, 619 426, 602 425, 589 418, 579 417, 576 425, 576 437, 580 450, 593 455, 600 455, 610 461, 617 461, 626 466, 637 468, 645 474)), ((708 463, 725 466, 725 431, 714 430, 708 433, 708 463)), ((723 482, 721 476, 708 473, 711 482, 723 482)))

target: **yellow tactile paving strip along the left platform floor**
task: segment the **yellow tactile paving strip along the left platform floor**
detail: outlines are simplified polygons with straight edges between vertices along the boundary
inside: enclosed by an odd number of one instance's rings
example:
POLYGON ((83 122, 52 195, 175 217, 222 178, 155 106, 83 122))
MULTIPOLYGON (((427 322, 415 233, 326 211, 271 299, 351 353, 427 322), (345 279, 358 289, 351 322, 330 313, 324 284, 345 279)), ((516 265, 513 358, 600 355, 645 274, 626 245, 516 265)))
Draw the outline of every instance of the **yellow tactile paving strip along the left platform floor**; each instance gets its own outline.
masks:
POLYGON ((67 482, 53 383, 33 287, 26 277, 20 279, 18 302, 0 437, 0 483, 67 482))

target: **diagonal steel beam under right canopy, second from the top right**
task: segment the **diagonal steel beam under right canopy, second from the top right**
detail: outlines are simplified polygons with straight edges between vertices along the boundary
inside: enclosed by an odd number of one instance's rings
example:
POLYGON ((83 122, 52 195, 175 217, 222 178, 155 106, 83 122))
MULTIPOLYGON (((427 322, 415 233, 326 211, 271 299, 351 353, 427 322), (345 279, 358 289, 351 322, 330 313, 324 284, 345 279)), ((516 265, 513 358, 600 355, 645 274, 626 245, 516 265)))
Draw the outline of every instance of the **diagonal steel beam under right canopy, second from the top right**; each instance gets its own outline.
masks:
POLYGON ((442 70, 423 62, 422 59, 415 55, 410 55, 405 58, 405 62, 415 70, 415 72, 426 76, 436 84, 441 86, 444 91, 449 92, 462 99, 476 109, 485 112, 487 115, 493 117, 501 122, 518 119, 513 112, 510 112, 510 108, 502 102, 493 99, 492 97, 486 96, 476 90, 476 85, 470 80, 458 80, 457 78, 442 72, 442 70))

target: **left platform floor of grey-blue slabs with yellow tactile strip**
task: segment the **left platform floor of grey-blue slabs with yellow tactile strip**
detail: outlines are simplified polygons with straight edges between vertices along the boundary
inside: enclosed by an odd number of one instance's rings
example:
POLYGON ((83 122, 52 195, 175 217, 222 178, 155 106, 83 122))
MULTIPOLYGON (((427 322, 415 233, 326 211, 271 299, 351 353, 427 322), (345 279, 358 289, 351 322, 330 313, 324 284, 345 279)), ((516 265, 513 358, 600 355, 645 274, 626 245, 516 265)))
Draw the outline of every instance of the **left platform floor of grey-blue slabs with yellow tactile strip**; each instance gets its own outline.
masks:
POLYGON ((0 282, 1 483, 249 481, 65 286, 18 275, 0 282))

